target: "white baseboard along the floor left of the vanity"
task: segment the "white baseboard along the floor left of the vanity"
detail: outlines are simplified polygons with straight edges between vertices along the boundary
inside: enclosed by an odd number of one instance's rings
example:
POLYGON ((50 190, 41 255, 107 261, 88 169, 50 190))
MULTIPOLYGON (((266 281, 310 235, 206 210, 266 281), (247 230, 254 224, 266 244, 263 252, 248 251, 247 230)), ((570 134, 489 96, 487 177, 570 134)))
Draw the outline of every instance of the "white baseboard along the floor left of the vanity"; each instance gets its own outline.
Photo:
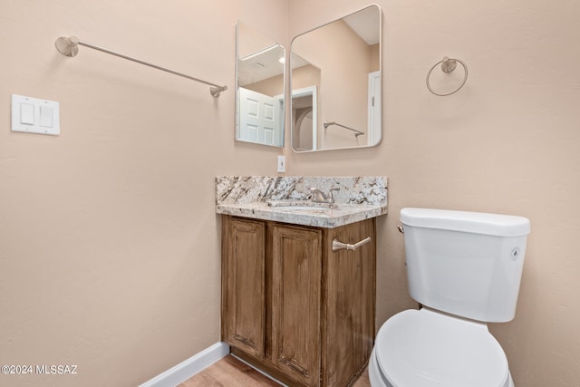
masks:
POLYGON ((180 382, 187 381, 191 376, 218 362, 228 353, 229 345, 227 343, 215 343, 166 372, 160 373, 149 382, 144 382, 140 387, 175 387, 180 382))

